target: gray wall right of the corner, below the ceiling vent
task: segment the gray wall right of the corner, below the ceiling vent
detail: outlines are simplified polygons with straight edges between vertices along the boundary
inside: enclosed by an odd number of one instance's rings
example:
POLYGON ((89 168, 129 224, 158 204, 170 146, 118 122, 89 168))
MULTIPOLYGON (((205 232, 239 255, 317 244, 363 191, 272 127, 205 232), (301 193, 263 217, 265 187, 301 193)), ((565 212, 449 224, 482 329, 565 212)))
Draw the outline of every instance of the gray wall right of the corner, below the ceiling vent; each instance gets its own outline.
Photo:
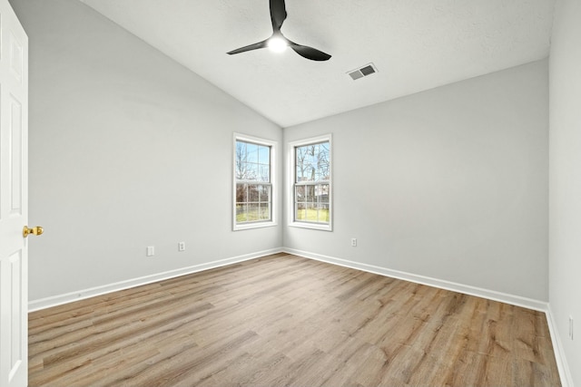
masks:
POLYGON ((333 232, 283 228, 284 246, 547 301, 547 75, 529 63, 285 128, 285 144, 332 132, 335 213, 333 232))

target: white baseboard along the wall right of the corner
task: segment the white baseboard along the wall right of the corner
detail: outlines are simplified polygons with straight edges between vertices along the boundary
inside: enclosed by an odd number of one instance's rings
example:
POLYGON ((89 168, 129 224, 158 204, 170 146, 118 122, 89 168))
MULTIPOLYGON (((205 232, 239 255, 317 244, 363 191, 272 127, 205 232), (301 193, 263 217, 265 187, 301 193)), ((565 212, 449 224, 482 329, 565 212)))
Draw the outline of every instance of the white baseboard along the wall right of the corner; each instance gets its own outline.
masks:
POLYGON ((477 297, 487 298, 489 300, 500 301, 509 305, 517 305, 526 307, 527 309, 537 310, 539 312, 547 312, 548 303, 544 301, 534 300, 532 298, 521 297, 519 295, 508 295, 506 293, 497 292, 494 290, 483 289, 476 286, 457 284, 455 282, 444 281, 438 278, 428 276, 418 276, 411 273, 402 272, 399 270, 392 270, 386 267, 373 266, 353 262, 347 259, 335 258, 333 256, 323 256, 307 251, 296 250, 294 248, 283 247, 285 253, 294 254, 295 256, 304 256, 306 258, 315 259, 322 262, 327 262, 334 265, 346 266, 358 270, 363 270, 380 276, 390 276, 393 278, 403 279, 409 282, 414 282, 422 285, 429 285, 441 289, 451 290, 465 295, 476 295, 477 297))

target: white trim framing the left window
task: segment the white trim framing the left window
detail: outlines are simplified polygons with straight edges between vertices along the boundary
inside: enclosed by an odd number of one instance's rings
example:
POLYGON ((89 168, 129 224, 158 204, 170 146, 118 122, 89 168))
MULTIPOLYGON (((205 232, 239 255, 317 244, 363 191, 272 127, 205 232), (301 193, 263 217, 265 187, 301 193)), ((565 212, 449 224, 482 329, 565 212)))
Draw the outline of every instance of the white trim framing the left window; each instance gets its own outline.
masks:
POLYGON ((276 169, 276 152, 278 143, 273 140, 261 139, 259 137, 249 136, 242 133, 234 133, 232 139, 232 230, 248 230, 252 228, 274 227, 278 225, 277 222, 277 208, 278 208, 278 189, 276 186, 277 169, 276 169), (236 141, 253 142, 259 145, 266 145, 271 147, 271 220, 264 220, 258 222, 238 224, 236 222, 236 141))

